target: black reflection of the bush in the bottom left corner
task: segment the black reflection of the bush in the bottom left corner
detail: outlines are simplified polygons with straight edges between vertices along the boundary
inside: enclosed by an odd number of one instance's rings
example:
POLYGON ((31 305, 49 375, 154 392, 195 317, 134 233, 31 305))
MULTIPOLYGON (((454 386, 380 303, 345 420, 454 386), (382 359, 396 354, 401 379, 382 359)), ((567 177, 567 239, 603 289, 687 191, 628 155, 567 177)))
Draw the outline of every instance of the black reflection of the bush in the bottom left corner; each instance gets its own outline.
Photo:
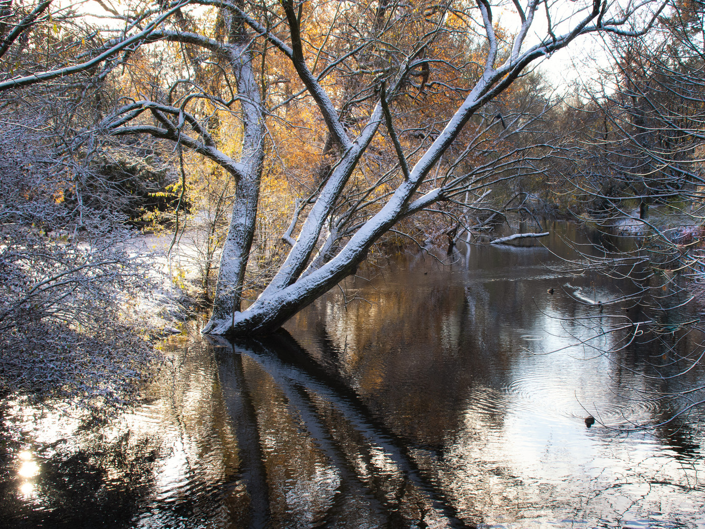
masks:
POLYGON ((154 447, 146 439, 131 438, 130 432, 114 440, 90 437, 76 451, 66 439, 42 446, 34 454, 41 480, 26 496, 18 493, 23 480, 8 464, 21 445, 17 439, 2 439, 5 447, 16 446, 1 465, 0 527, 132 526, 154 486, 154 447))

